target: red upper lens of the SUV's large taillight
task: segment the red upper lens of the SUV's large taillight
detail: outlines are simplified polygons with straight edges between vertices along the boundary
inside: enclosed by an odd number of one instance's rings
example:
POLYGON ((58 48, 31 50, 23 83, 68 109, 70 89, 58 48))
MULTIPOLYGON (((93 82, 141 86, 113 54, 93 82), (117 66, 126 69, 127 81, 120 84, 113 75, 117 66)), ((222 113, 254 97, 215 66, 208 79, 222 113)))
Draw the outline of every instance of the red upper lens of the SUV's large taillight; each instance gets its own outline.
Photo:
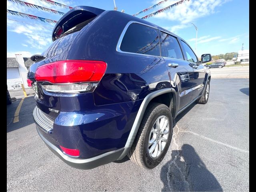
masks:
POLYGON ((106 68, 107 64, 103 61, 56 61, 38 67, 35 79, 50 83, 98 82, 106 68))

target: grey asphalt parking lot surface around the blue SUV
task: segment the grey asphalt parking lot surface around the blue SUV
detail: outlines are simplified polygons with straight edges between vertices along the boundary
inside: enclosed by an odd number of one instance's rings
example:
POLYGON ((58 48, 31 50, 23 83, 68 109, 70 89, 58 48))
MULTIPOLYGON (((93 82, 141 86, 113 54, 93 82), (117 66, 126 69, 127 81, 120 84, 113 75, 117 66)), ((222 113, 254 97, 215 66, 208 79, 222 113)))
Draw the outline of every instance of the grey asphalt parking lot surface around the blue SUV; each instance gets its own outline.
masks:
POLYGON ((92 170, 66 165, 36 132, 33 96, 14 117, 21 100, 7 106, 8 191, 249 191, 249 79, 212 79, 208 103, 176 118, 153 170, 128 158, 92 170))

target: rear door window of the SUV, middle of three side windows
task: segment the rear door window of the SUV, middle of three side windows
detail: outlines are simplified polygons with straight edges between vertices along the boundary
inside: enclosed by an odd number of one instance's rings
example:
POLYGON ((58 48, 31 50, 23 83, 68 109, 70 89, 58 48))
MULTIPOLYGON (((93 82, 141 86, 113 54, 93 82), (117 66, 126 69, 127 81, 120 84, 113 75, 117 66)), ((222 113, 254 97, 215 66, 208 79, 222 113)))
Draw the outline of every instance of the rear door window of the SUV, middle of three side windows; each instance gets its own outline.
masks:
POLYGON ((161 32, 160 44, 161 56, 184 60, 177 38, 161 32))

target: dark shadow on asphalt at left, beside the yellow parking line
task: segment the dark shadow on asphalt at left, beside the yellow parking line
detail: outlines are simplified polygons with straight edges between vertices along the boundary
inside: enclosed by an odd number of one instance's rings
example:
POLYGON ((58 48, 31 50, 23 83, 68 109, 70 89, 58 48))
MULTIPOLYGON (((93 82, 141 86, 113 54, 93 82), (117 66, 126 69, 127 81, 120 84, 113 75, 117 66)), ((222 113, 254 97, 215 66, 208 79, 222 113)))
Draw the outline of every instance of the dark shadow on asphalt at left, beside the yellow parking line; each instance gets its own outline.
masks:
POLYGON ((21 98, 17 99, 12 104, 7 105, 7 133, 34 123, 33 110, 36 101, 33 96, 24 98, 18 115, 18 122, 14 122, 15 112, 21 100, 21 98))

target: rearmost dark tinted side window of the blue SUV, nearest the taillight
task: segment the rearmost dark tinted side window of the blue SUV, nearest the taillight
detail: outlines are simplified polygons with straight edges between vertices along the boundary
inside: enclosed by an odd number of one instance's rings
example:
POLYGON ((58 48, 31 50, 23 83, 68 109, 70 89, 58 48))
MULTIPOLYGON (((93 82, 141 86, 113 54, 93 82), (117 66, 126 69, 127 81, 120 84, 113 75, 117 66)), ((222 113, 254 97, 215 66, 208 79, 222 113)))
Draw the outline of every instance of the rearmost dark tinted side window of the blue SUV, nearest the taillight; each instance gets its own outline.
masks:
POLYGON ((132 23, 126 30, 120 50, 124 52, 160 56, 157 29, 132 23))

